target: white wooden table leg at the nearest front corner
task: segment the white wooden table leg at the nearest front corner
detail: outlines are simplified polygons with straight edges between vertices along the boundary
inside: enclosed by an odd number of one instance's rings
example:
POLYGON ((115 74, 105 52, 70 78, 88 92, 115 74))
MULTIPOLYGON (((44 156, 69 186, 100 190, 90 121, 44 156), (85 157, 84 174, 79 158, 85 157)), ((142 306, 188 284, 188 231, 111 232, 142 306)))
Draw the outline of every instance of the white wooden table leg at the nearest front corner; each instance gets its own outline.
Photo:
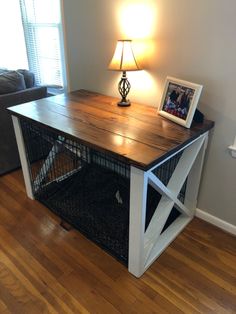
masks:
POLYGON ((128 269, 136 277, 140 277, 144 273, 147 183, 146 172, 131 167, 128 269))

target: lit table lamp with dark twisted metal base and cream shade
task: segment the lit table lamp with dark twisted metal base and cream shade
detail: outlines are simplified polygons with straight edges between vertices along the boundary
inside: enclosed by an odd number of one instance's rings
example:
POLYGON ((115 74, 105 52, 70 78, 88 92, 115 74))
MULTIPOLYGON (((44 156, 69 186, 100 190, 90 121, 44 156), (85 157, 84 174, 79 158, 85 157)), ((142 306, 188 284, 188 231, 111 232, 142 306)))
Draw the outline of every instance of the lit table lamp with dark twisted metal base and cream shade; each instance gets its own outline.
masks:
POLYGON ((122 99, 117 105, 121 107, 130 106, 130 101, 127 100, 126 97, 130 91, 131 85, 126 77, 126 71, 141 70, 133 53, 132 40, 126 39, 117 41, 115 53, 108 69, 122 71, 122 77, 118 84, 118 90, 122 99))

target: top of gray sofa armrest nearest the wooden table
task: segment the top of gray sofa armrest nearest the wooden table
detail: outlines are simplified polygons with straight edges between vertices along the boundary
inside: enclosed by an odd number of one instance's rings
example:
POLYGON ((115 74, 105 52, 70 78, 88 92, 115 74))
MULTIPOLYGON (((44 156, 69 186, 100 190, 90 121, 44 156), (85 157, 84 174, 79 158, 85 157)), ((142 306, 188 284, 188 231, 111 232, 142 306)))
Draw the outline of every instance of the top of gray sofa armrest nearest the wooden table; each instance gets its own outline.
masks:
POLYGON ((3 106, 7 108, 45 97, 47 97, 47 87, 39 86, 27 88, 15 93, 0 95, 0 107, 3 106))

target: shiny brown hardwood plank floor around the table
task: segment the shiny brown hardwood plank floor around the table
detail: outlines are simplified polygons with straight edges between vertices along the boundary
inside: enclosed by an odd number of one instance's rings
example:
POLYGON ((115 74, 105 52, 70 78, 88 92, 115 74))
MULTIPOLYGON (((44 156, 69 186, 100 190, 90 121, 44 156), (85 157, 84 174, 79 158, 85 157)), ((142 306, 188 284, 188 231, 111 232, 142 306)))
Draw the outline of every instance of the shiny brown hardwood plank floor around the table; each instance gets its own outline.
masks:
POLYGON ((140 278, 0 177, 0 313, 236 313, 236 239, 199 220, 140 278))

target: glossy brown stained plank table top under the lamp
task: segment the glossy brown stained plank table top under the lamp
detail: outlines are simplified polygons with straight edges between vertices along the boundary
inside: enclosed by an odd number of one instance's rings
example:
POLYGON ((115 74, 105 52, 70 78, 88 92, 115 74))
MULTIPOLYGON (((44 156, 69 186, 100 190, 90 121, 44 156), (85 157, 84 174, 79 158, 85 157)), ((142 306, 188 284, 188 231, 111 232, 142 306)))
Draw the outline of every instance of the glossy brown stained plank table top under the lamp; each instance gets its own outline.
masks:
POLYGON ((80 139, 143 170, 173 154, 214 126, 193 123, 190 129, 158 115, 157 109, 80 90, 9 108, 12 115, 36 121, 80 139))

